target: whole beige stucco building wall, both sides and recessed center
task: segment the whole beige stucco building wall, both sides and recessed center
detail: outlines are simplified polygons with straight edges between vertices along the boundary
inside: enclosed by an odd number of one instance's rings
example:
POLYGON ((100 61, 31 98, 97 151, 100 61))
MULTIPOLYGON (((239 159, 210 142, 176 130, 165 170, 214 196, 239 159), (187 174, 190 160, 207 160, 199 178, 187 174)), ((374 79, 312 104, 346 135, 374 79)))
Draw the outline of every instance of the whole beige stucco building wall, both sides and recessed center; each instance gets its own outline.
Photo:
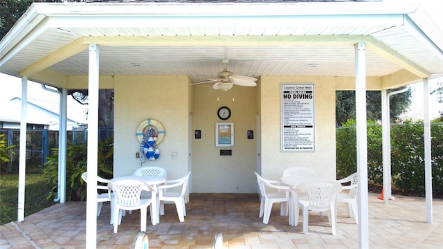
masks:
POLYGON ((130 175, 141 166, 136 158, 140 147, 136 129, 152 118, 163 124, 166 134, 159 145, 159 160, 143 166, 164 167, 168 178, 192 170, 191 192, 256 192, 257 165, 265 178, 278 179, 293 166, 311 167, 320 176, 335 178, 335 80, 262 76, 257 87, 215 91, 210 84, 188 86, 187 76, 116 76, 114 176, 130 175), (315 152, 280 151, 281 83, 315 84, 315 152), (217 117, 221 106, 231 109, 228 120, 217 117), (234 122, 234 147, 215 147, 216 122, 234 122), (201 130, 201 139, 195 139, 196 129, 201 130), (247 139, 248 130, 254 131, 254 139, 247 139), (231 149, 232 156, 220 156, 220 149, 231 149), (177 159, 172 158, 173 152, 177 159))

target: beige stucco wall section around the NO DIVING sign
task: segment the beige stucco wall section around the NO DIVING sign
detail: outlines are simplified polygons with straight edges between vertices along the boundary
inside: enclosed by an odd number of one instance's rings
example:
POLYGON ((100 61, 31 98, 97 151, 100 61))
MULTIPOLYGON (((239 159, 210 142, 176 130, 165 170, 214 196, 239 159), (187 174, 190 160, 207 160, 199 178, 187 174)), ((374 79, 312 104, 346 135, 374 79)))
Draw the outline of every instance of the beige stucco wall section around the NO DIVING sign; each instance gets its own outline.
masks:
POLYGON ((280 179, 287 167, 309 167, 325 178, 336 176, 334 77, 260 77, 262 176, 280 179), (280 84, 315 84, 315 152, 281 152, 280 84))

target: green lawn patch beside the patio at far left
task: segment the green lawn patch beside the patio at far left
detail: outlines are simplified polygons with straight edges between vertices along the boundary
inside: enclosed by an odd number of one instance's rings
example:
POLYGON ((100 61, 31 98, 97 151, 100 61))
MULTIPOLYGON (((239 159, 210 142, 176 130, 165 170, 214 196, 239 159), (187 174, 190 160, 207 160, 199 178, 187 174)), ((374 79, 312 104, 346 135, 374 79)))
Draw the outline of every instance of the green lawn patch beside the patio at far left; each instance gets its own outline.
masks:
MULTIPOLYGON (((18 185, 19 174, 0 175, 0 225, 17 221, 18 185)), ((26 174, 25 216, 53 205, 46 201, 51 188, 42 174, 26 174)))

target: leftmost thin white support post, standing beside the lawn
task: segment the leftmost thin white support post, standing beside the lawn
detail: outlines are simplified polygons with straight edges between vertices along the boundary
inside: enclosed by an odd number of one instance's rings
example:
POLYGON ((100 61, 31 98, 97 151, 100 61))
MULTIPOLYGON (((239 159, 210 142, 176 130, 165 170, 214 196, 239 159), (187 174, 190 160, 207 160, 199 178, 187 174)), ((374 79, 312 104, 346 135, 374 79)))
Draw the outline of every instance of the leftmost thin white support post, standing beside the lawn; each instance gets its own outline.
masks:
POLYGON ((26 176, 26 124, 28 113, 28 77, 21 77, 21 117, 19 149, 19 196, 17 221, 25 220, 25 176, 26 176))

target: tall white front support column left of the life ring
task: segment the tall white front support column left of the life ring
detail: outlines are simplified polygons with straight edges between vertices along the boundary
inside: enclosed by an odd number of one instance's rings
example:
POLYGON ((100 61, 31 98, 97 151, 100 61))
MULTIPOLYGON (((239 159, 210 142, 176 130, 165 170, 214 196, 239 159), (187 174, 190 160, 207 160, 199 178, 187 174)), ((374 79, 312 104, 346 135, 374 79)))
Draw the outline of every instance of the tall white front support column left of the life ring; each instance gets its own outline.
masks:
POLYGON ((86 212, 86 248, 97 247, 97 174, 98 174, 98 45, 89 45, 89 112, 88 112, 88 184, 86 212))

